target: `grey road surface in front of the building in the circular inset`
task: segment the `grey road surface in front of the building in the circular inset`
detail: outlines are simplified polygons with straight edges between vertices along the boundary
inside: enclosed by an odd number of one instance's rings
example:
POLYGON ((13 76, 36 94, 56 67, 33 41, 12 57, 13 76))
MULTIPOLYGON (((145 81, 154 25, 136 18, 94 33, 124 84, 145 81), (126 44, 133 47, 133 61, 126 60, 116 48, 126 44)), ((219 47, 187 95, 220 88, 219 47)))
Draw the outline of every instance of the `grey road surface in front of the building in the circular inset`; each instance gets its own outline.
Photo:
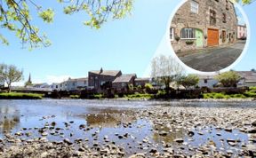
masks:
POLYGON ((244 50, 246 41, 237 41, 226 47, 206 48, 204 50, 191 51, 184 57, 179 57, 180 60, 188 67, 194 68, 203 72, 220 71, 233 64, 244 50))

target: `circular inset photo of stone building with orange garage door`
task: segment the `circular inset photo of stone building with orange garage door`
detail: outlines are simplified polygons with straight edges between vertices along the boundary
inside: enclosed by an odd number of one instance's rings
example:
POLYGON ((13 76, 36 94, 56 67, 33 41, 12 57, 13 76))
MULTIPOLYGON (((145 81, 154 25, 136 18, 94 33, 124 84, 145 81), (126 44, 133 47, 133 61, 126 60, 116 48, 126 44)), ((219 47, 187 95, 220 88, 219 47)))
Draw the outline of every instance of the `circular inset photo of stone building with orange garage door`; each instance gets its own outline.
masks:
POLYGON ((240 57, 247 39, 245 17, 229 0, 188 0, 172 18, 172 50, 188 67, 216 72, 240 57))

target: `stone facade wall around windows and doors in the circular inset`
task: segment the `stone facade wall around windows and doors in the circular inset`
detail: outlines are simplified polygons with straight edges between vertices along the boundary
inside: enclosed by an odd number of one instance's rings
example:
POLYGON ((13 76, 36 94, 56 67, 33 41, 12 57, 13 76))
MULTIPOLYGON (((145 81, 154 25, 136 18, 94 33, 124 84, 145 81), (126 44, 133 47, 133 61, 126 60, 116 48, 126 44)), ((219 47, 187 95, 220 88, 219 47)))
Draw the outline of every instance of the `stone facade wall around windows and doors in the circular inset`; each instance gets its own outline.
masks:
MULTIPOLYGON (((219 45, 227 45, 228 43, 236 42, 237 35, 237 18, 234 4, 228 1, 228 9, 226 8, 226 0, 188 0, 183 4, 176 12, 172 19, 171 28, 174 29, 174 36, 180 37, 180 40, 174 37, 172 48, 177 51, 190 51, 200 49, 202 47, 196 47, 196 39, 194 44, 187 44, 187 39, 181 38, 182 28, 196 28, 203 31, 203 48, 208 46, 207 43, 207 31, 208 28, 219 30, 219 45), (191 2, 198 3, 198 13, 191 12, 191 2), (216 24, 210 25, 210 11, 216 12, 216 24), (226 14, 226 23, 223 22, 223 13, 226 14), (226 31, 227 40, 222 42, 222 31, 226 31), (229 39, 230 35, 230 39, 229 39)), ((190 40, 190 39, 189 39, 190 40)))

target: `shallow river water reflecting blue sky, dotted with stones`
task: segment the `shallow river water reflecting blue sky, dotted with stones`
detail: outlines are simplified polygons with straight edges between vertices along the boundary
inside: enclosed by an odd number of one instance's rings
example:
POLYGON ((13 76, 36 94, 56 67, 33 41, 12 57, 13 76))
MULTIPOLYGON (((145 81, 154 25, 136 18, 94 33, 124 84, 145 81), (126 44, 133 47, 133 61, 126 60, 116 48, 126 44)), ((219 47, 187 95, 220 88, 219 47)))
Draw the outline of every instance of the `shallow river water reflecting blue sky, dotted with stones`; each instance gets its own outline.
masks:
POLYGON ((157 101, 121 101, 121 100, 76 100, 76 99, 43 99, 43 100, 0 100, 0 138, 4 134, 14 134, 17 131, 28 132, 29 136, 20 138, 40 138, 39 129, 46 127, 47 138, 52 141, 61 141, 68 138, 71 141, 77 138, 88 139, 88 145, 95 142, 106 143, 106 136, 110 142, 123 146, 125 153, 145 152, 156 147, 163 150, 164 144, 171 144, 174 149, 189 153, 189 147, 206 146, 210 140, 214 141, 217 150, 228 149, 239 153, 241 145, 248 142, 248 135, 233 130, 228 132, 218 130, 214 126, 206 126, 199 129, 204 135, 195 131, 193 137, 188 137, 186 130, 182 128, 158 126, 148 118, 136 117, 135 110, 148 109, 150 107, 241 107, 251 108, 252 102, 157 102, 157 101), (53 122, 53 123, 52 123, 53 122), (66 124, 65 124, 66 122, 66 124), (84 124, 85 128, 79 128, 84 124), (51 128, 52 127, 52 128, 51 128), (56 129, 60 128, 56 133, 56 129), (166 137, 156 133, 156 129, 166 131, 166 137), (211 131, 211 132, 209 132, 211 131), (118 138, 129 133, 127 138, 118 138), (220 133, 220 136, 216 134, 220 133), (105 138, 104 138, 105 137, 105 138), (145 140, 146 138, 146 140, 145 140), (183 138, 188 145, 178 144, 173 140, 183 138), (236 147, 228 146, 226 138, 240 139, 236 147), (144 143, 142 143, 144 141, 144 143), (141 145, 140 145, 141 144, 141 145))

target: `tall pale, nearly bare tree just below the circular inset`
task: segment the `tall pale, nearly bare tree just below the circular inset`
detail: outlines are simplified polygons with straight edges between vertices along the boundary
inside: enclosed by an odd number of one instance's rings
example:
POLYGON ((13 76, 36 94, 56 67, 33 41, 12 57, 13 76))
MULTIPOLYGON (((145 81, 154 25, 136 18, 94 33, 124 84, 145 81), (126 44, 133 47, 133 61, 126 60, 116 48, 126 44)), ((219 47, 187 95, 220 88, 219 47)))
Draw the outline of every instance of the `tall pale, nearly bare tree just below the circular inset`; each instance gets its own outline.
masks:
POLYGON ((151 63, 151 77, 156 83, 164 84, 165 90, 168 92, 170 83, 180 75, 182 75, 183 68, 171 56, 160 55, 152 60, 151 63))

